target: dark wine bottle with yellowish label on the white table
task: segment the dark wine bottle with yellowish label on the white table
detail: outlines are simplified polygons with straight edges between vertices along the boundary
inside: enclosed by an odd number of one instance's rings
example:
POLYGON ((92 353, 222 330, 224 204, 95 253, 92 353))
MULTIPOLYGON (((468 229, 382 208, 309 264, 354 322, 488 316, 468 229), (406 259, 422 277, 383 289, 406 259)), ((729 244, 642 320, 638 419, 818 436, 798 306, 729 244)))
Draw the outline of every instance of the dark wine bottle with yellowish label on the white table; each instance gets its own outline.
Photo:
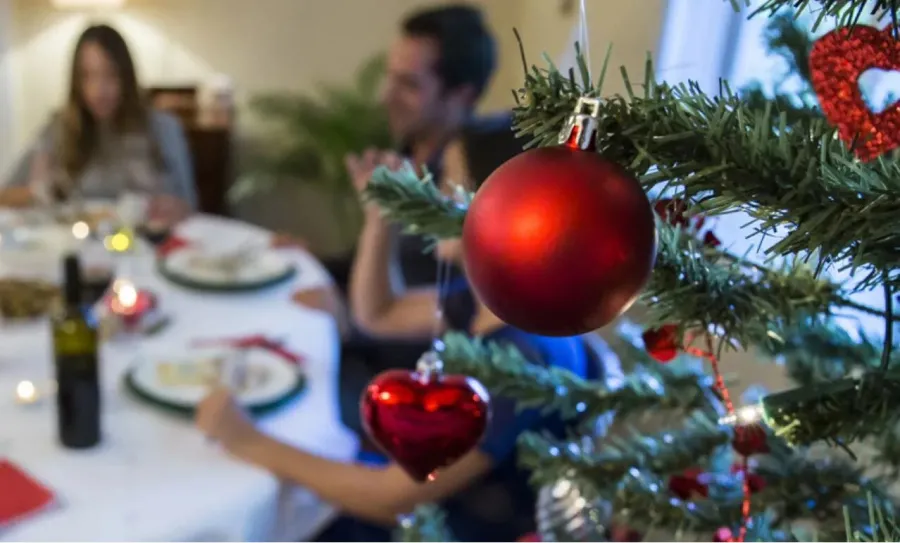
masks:
POLYGON ((87 449, 101 439, 99 339, 83 304, 77 256, 66 256, 64 274, 63 306, 53 320, 59 440, 87 449))

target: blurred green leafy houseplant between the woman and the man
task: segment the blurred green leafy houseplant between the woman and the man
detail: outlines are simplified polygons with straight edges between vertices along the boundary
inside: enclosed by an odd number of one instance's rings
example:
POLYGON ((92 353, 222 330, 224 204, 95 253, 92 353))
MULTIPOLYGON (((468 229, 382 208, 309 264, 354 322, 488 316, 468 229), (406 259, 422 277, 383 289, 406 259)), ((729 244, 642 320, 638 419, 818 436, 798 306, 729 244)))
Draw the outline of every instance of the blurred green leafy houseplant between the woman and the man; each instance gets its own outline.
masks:
POLYGON ((304 184, 329 202, 331 227, 337 230, 339 246, 349 254, 362 214, 344 157, 391 145, 378 105, 384 70, 384 56, 379 54, 360 66, 349 85, 320 84, 310 94, 253 97, 249 108, 264 132, 229 191, 232 202, 271 192, 284 183, 304 184))

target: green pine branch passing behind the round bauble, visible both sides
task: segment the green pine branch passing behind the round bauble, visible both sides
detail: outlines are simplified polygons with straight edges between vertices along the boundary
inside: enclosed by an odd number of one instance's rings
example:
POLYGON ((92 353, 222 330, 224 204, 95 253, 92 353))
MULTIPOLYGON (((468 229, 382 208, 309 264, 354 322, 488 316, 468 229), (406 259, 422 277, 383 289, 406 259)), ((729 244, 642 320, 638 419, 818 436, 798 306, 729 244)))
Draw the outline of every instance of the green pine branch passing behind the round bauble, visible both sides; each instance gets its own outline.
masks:
MULTIPOLYGON (((390 219, 406 230, 439 238, 459 237, 465 203, 445 197, 410 169, 379 168, 366 189, 390 219)), ((703 247, 688 232, 658 221, 656 265, 644 291, 649 324, 677 322, 684 328, 716 325, 725 344, 764 341, 773 320, 794 322, 802 315, 828 313, 832 305, 852 305, 841 289, 818 279, 798 260, 770 269, 703 247)), ((866 308, 862 308, 866 309, 866 308)), ((874 312, 869 310, 870 312, 874 312)), ((877 312, 876 312, 877 313, 877 312)))

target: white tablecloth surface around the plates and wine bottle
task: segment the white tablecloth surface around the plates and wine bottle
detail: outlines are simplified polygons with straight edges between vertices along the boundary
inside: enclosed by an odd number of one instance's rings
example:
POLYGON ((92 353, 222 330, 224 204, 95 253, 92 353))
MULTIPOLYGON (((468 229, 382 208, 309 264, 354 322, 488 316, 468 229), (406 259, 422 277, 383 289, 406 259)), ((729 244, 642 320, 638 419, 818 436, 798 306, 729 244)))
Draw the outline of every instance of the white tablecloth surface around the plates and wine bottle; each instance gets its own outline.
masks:
MULTIPOLYGON (((198 216, 178 230, 194 242, 267 242, 270 234, 237 221, 198 216)), ((305 357, 305 391, 259 420, 269 434, 306 451, 350 461, 358 440, 340 422, 339 341, 334 319, 292 303, 296 289, 330 279, 301 249, 279 249, 296 266, 285 284, 248 293, 209 293, 158 275, 153 253, 128 257, 131 279, 160 298, 171 324, 137 344, 111 341, 101 353, 104 439, 72 451, 57 441, 55 399, 15 401, 23 380, 52 380, 46 321, 0 326, 0 457, 54 491, 50 509, 0 531, 0 541, 303 541, 334 510, 309 491, 243 464, 205 440, 192 422, 133 398, 122 377, 141 353, 188 348, 197 338, 262 333, 305 357)), ((16 273, 0 255, 0 275, 16 273)), ((58 255, 43 265, 60 266, 58 255)), ((21 274, 21 270, 18 270, 21 274)), ((35 271, 37 273, 37 271, 35 271)), ((0 489, 2 492, 2 489, 0 489)))

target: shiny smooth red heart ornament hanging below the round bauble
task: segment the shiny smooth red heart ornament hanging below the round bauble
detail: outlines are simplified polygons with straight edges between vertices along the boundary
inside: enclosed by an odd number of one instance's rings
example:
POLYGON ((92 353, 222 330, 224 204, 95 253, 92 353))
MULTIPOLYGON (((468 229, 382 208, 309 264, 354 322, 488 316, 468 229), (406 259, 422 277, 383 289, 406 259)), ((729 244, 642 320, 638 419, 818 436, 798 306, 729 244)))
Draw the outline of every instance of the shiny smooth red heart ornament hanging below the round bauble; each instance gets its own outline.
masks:
POLYGON ((369 436, 413 479, 426 481, 481 441, 490 397, 462 375, 389 370, 366 387, 360 410, 369 436))

